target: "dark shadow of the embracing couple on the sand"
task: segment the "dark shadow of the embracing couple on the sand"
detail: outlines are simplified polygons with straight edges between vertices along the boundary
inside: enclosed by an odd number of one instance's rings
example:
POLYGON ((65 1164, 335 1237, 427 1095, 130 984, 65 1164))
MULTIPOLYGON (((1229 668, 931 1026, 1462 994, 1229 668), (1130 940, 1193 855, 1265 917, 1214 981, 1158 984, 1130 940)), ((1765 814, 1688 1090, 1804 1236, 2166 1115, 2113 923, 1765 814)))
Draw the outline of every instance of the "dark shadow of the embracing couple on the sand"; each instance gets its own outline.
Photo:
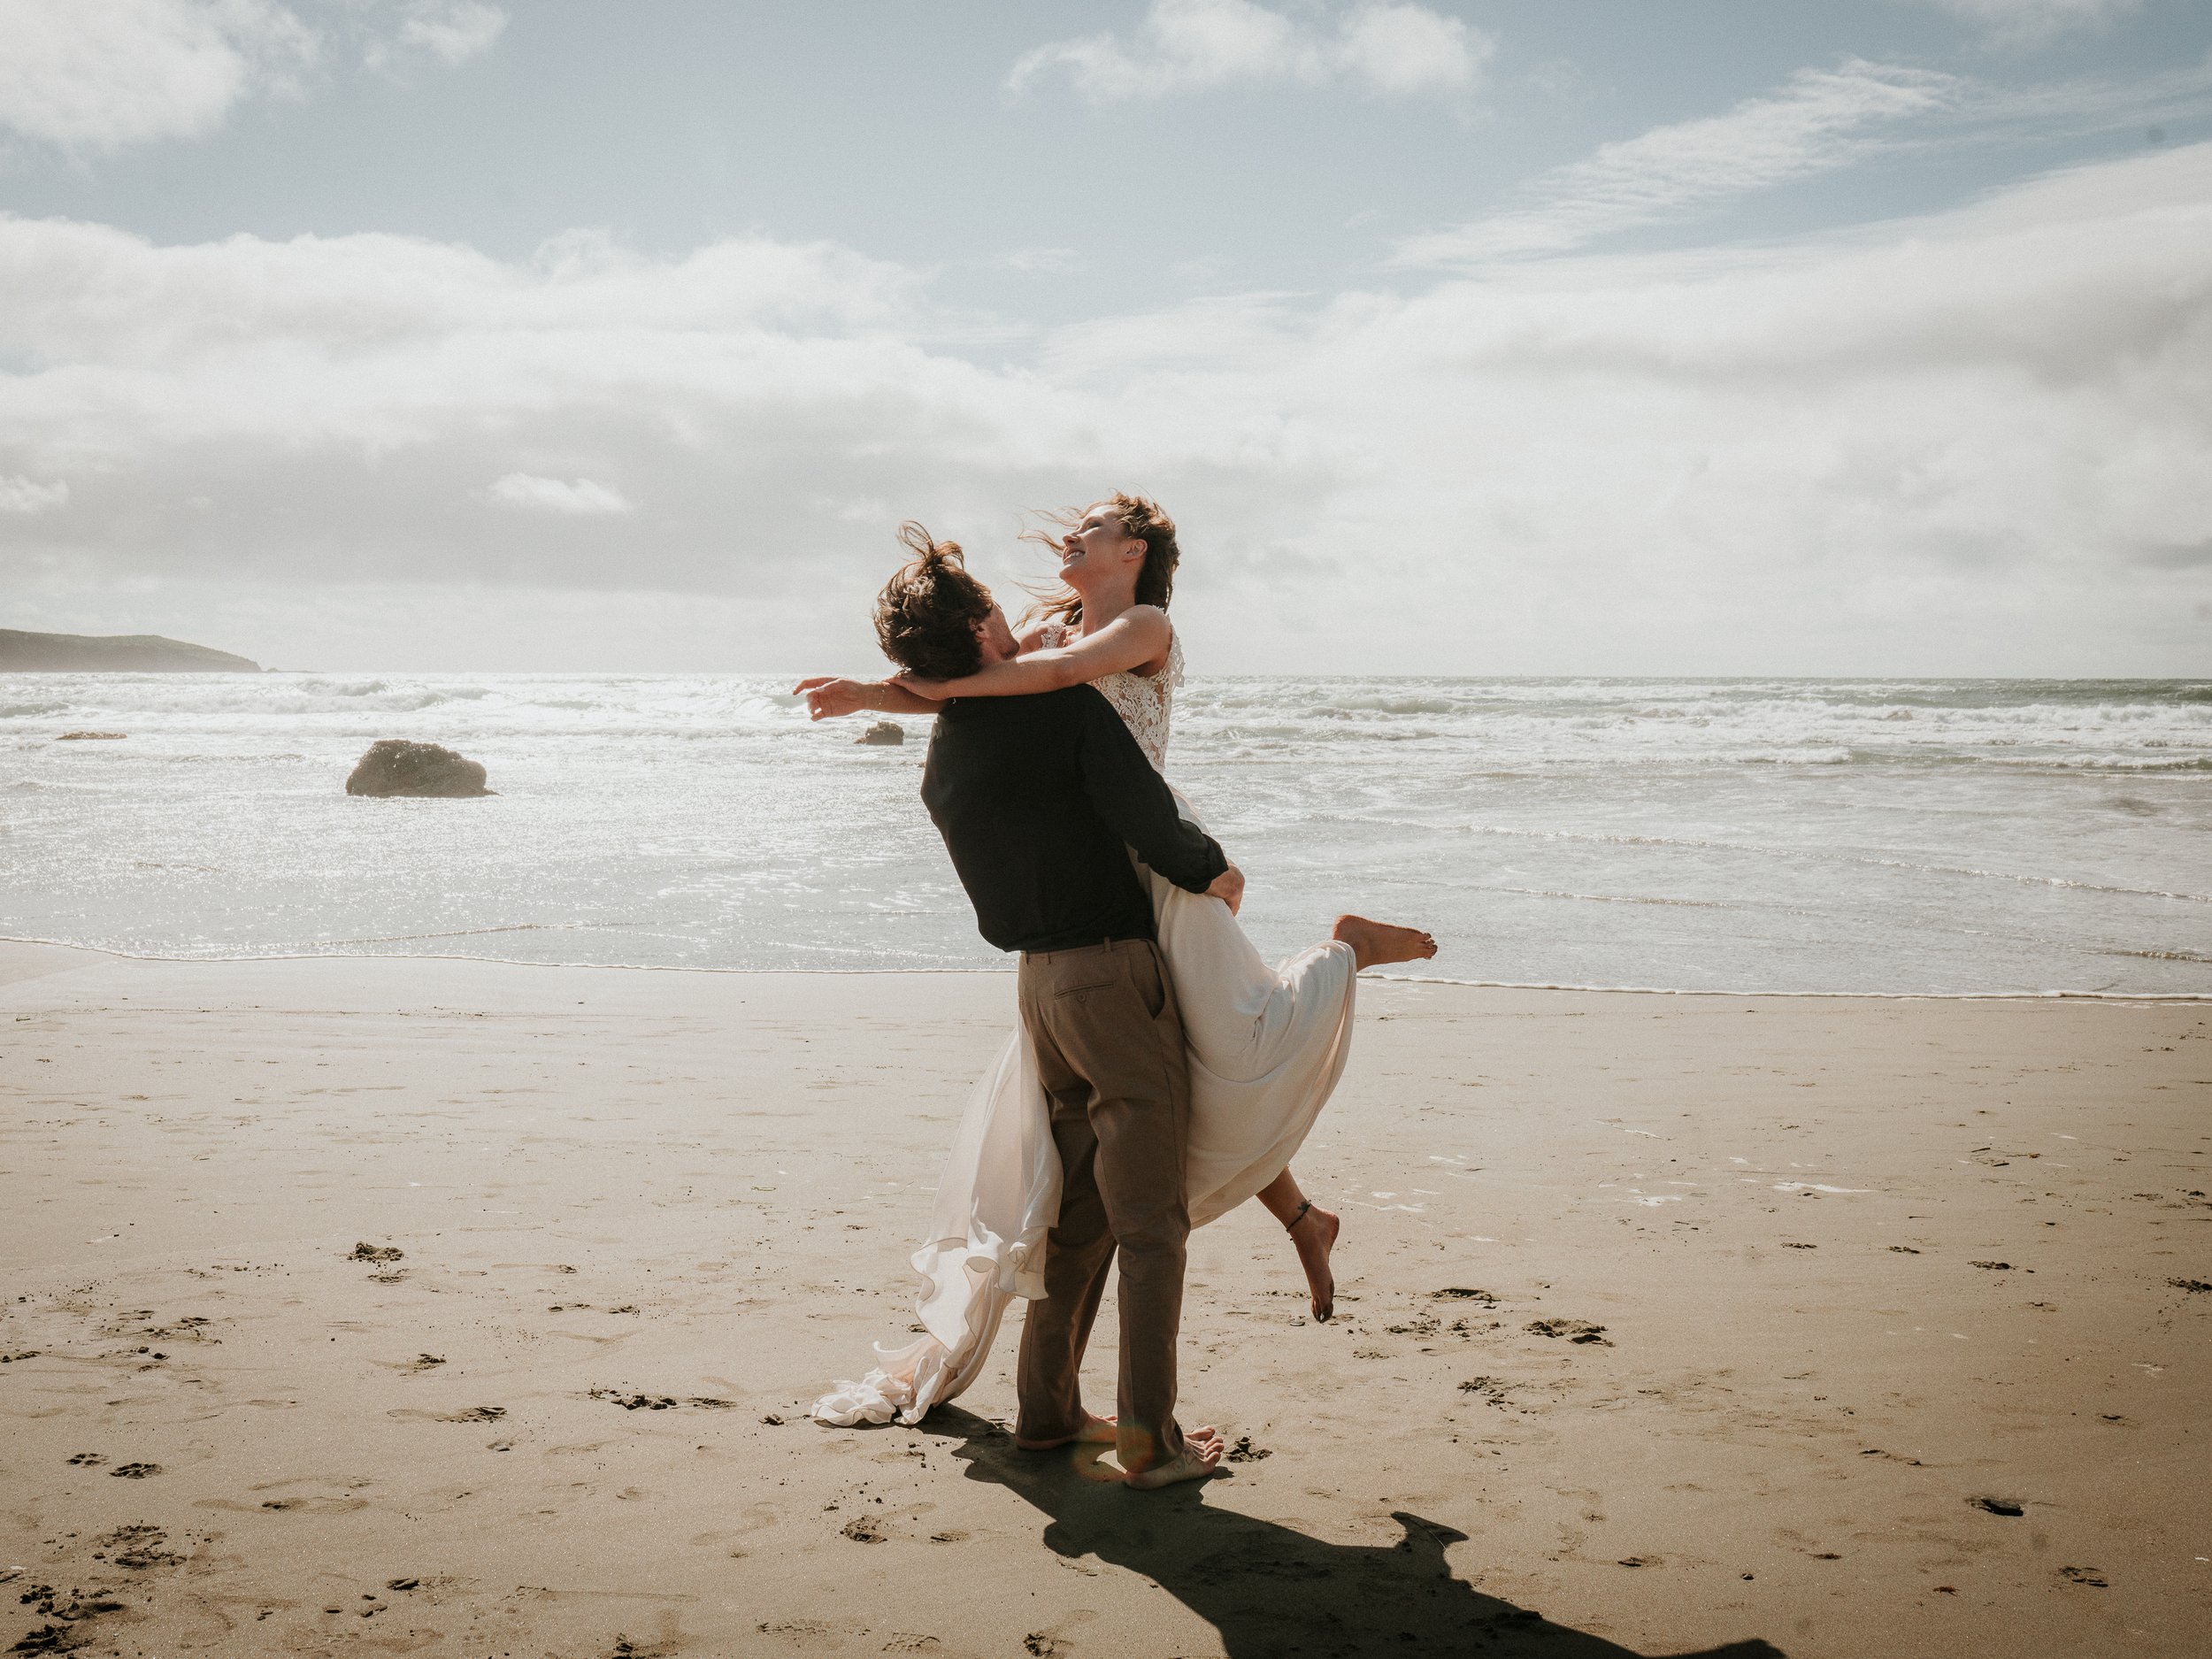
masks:
MULTIPOLYGON (((1325 1544, 1276 1522, 1206 1502, 1203 1484, 1130 1493, 1086 1478, 1084 1453, 1015 1451, 1013 1436, 958 1407, 938 1407, 922 1433, 958 1440, 969 1480, 1006 1486, 1051 1517, 1055 1555, 1095 1555, 1139 1573, 1221 1632, 1230 1659, 1276 1655, 1469 1652, 1551 1659, 1641 1659, 1604 1637, 1482 1595, 1453 1577, 1444 1546, 1467 1535, 1398 1511, 1396 1544, 1325 1544)), ((1206 1482, 1212 1484, 1212 1482, 1206 1482)), ((1765 1641, 1734 1641, 1683 1659, 1783 1659, 1765 1641)))

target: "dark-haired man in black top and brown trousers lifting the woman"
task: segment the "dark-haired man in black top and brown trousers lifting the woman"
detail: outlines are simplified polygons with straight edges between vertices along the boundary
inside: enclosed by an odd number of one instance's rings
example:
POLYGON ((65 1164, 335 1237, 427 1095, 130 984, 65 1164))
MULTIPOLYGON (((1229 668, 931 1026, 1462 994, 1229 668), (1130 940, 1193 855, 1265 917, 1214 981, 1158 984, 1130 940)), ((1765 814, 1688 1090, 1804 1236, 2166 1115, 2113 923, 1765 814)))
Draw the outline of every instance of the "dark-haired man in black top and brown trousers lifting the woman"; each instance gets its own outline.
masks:
MULTIPOLYGON (((960 549, 914 524, 902 540, 916 560, 876 602, 885 655, 931 679, 1013 657, 1013 630, 960 549)), ((849 686, 801 690, 821 708, 849 699, 849 686)), ((1022 1325, 1015 1444, 1115 1442, 1124 1482, 1139 1489, 1203 1478, 1221 1460, 1221 1436, 1175 1420, 1190 1075, 1152 902, 1126 849, 1177 887, 1230 902, 1243 876, 1177 814, 1166 781, 1091 686, 936 708, 922 803, 978 929, 1022 953, 1022 1024, 1062 1166, 1046 1294, 1022 1325), (1084 1411, 1077 1374, 1117 1254, 1119 1416, 1106 1422, 1084 1411)))

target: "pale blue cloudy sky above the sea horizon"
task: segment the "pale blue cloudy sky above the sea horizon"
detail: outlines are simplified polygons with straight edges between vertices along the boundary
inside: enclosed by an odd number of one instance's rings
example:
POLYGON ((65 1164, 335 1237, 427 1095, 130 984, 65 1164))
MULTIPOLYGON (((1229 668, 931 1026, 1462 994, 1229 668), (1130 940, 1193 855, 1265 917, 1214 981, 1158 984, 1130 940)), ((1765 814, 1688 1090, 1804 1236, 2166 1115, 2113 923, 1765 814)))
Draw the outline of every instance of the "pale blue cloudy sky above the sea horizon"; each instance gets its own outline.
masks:
POLYGON ((874 670, 1155 495, 1199 672, 2212 675, 2201 0, 0 0, 0 626, 874 670))

